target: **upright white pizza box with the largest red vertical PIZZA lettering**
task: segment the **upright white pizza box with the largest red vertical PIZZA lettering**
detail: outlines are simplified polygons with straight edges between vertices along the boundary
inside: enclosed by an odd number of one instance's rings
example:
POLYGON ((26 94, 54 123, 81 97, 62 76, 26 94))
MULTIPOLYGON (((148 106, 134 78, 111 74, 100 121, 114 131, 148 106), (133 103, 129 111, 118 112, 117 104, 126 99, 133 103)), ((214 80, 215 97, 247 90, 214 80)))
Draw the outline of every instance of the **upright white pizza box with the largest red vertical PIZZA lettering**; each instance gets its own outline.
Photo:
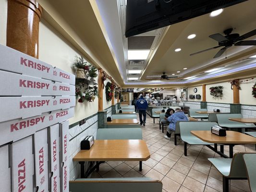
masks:
POLYGON ((34 155, 32 136, 11 144, 12 192, 33 192, 34 155))

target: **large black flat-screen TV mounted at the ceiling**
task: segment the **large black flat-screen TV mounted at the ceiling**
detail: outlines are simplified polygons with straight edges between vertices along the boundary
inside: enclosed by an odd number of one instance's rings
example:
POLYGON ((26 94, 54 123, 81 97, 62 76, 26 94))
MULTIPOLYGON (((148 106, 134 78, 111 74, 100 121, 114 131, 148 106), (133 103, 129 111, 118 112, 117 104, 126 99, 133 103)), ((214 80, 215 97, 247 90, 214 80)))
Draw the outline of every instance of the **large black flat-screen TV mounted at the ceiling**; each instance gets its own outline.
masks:
POLYGON ((176 24, 244 1, 247 0, 127 0, 125 36, 176 24))

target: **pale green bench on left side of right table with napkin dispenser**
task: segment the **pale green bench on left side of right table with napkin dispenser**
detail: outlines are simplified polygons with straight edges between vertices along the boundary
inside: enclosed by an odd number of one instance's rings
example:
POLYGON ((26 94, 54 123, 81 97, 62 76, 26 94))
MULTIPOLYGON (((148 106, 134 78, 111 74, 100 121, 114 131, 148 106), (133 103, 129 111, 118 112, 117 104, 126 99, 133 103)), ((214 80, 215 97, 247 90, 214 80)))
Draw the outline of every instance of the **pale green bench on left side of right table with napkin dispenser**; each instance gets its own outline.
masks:
POLYGON ((204 142, 201 139, 192 135, 191 131, 210 131, 212 126, 218 124, 216 122, 208 121, 180 121, 179 125, 181 138, 184 142, 184 156, 187 156, 187 144, 211 145, 211 143, 204 142))

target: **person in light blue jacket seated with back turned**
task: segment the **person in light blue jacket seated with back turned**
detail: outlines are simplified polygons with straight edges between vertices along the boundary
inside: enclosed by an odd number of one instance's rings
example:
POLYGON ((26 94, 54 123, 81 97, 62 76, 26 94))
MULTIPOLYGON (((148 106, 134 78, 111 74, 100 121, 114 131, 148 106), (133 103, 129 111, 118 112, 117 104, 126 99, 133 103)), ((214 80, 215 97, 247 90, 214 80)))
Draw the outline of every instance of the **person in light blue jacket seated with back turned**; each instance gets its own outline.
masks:
POLYGON ((167 119, 170 124, 167 128, 166 135, 164 136, 166 139, 171 140, 171 132, 175 132, 175 126, 177 121, 188 121, 187 116, 184 114, 184 112, 181 110, 181 108, 176 108, 173 115, 168 117, 167 119))

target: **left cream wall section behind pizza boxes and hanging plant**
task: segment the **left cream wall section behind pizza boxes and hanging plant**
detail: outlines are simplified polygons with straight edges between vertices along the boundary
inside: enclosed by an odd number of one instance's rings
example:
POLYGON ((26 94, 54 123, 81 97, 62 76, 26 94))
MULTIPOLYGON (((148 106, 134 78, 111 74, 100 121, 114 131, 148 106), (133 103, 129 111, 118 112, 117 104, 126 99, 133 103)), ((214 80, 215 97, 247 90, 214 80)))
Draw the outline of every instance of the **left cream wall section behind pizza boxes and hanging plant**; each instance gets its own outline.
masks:
MULTIPOLYGON (((80 54, 68 41, 58 34, 47 22, 40 22, 39 60, 75 74, 72 66, 75 55, 80 54)), ((98 77, 96 82, 98 82, 98 77)), ((70 124, 98 112, 98 97, 96 97, 94 102, 85 101, 84 103, 78 103, 77 100, 74 117, 70 119, 70 124)))

